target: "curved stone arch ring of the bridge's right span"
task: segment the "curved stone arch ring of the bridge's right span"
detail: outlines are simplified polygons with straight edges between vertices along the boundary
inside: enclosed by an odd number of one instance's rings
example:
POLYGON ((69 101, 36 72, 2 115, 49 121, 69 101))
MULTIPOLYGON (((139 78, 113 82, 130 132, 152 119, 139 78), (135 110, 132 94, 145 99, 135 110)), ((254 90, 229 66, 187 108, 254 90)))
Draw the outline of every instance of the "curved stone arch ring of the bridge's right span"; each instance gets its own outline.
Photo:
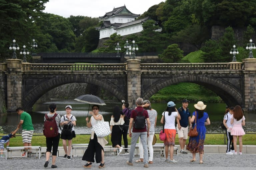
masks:
POLYGON ((190 82, 202 85, 213 92, 215 92, 220 98, 228 105, 243 105, 243 95, 239 90, 232 86, 232 84, 227 84, 224 81, 216 78, 207 78, 202 76, 195 75, 186 75, 180 76, 176 78, 166 78, 161 81, 158 81, 155 84, 150 85, 143 93, 142 97, 144 99, 149 99, 155 93, 166 86, 170 86, 173 84, 178 84, 181 82, 190 82))

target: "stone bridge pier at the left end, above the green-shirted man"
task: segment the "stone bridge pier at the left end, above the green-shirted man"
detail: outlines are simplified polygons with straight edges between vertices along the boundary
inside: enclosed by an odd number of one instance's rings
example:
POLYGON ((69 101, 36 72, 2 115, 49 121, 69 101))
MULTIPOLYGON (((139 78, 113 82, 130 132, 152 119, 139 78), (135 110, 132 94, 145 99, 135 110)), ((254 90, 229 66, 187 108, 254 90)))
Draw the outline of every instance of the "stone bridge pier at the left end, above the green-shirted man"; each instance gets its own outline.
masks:
POLYGON ((20 59, 7 59, 7 112, 22 106, 22 74, 20 59))

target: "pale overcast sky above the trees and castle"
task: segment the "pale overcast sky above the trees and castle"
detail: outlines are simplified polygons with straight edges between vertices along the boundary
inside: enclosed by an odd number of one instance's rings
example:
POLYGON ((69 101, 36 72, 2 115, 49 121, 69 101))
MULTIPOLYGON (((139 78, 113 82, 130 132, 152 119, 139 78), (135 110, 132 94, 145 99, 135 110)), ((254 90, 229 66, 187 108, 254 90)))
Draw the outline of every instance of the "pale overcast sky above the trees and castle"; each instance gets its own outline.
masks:
POLYGON ((153 5, 165 0, 49 0, 44 12, 56 14, 65 18, 73 16, 100 17, 113 8, 126 6, 134 14, 143 14, 153 5))

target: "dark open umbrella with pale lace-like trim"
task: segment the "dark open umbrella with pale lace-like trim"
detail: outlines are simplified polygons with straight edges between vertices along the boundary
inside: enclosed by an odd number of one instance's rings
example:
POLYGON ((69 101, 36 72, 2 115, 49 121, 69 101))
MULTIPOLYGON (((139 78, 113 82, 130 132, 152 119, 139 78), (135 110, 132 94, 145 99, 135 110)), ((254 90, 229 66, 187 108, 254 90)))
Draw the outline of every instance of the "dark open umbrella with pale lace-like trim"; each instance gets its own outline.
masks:
POLYGON ((79 96, 74 100, 89 104, 87 117, 89 114, 90 105, 101 105, 101 106, 106 105, 102 99, 91 94, 85 94, 85 95, 79 96))

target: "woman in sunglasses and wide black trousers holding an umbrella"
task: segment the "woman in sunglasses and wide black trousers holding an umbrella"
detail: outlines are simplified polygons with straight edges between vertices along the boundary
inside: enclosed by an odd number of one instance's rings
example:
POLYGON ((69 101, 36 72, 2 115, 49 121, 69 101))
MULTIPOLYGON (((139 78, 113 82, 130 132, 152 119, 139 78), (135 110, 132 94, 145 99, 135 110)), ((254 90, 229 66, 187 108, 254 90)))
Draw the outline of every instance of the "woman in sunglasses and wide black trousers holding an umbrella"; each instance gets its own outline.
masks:
MULTIPOLYGON (((99 106, 93 105, 92 112, 89 112, 91 116, 90 122, 89 118, 86 118, 86 125, 88 128, 94 127, 100 122, 104 122, 103 116, 99 114, 99 106)), ((96 163, 100 163, 99 168, 104 168, 104 150, 103 147, 108 144, 108 141, 103 137, 97 137, 94 131, 91 133, 91 138, 88 144, 88 148, 84 152, 82 160, 87 161, 87 163, 83 166, 84 168, 91 168, 92 162, 94 162, 94 154, 96 163)))

